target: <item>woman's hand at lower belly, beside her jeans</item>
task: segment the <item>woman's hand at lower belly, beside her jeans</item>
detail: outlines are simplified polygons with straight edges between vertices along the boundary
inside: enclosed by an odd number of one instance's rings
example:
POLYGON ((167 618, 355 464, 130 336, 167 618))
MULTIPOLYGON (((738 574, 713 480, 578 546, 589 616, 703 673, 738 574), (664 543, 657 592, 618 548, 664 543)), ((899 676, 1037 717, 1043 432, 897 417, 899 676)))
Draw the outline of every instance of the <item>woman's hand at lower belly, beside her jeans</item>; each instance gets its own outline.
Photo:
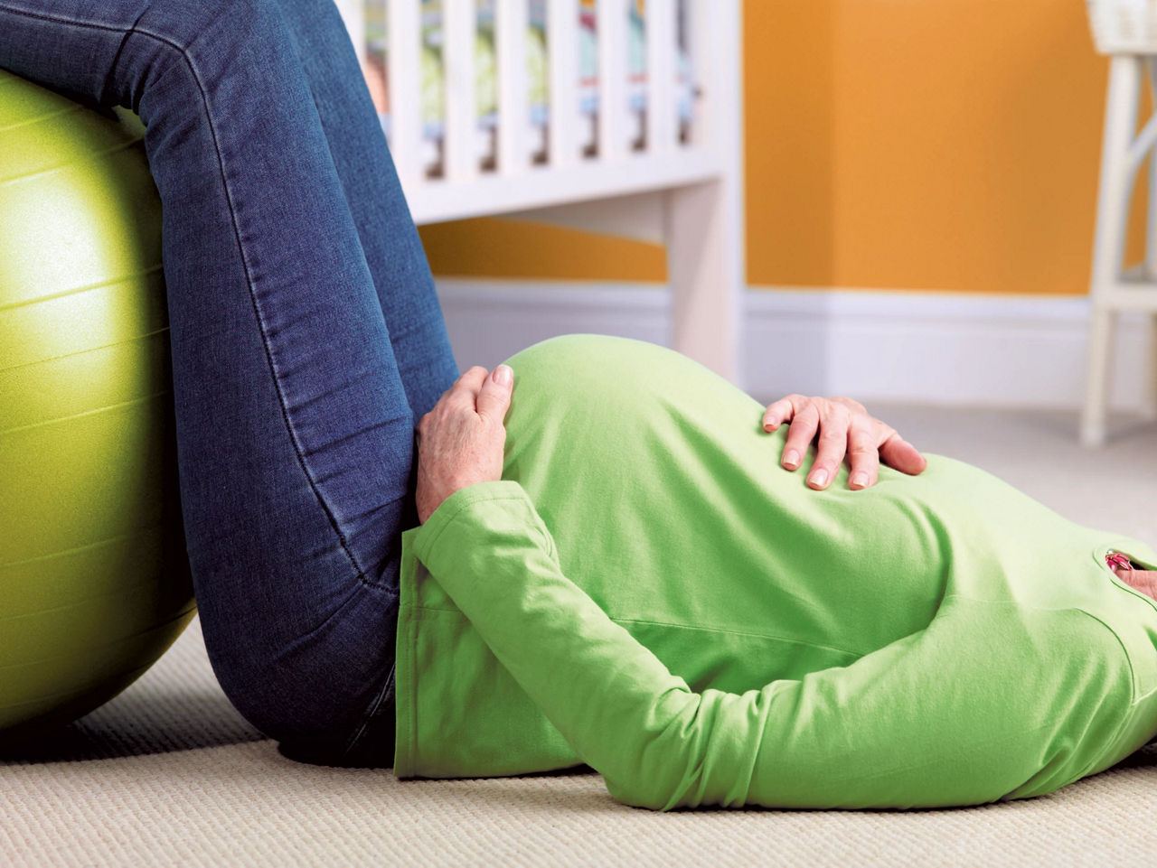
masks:
POLYGON ((473 366, 418 423, 418 520, 466 485, 502 478, 502 420, 510 407, 514 371, 499 365, 487 376, 473 366))

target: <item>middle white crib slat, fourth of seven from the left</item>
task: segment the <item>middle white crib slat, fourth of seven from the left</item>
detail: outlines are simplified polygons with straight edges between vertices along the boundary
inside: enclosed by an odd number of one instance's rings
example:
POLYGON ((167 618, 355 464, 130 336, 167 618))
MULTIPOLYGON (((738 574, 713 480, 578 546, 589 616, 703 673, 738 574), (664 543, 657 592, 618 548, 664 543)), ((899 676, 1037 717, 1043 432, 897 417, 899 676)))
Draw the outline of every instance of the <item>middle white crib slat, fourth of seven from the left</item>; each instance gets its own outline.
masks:
POLYGON ((498 0, 494 21, 499 65, 499 171, 521 172, 530 162, 526 135, 526 0, 498 0))

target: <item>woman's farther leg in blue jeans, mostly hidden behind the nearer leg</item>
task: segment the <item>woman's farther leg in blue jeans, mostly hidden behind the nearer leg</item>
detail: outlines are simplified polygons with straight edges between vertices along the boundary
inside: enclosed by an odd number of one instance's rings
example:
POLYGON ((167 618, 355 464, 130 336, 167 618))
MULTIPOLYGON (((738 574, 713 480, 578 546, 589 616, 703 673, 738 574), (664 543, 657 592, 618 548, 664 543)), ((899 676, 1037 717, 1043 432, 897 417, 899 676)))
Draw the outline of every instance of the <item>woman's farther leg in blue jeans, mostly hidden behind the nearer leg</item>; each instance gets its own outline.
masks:
POLYGON ((417 424, 458 378, 426 253, 337 7, 332 0, 277 3, 349 202, 417 424))

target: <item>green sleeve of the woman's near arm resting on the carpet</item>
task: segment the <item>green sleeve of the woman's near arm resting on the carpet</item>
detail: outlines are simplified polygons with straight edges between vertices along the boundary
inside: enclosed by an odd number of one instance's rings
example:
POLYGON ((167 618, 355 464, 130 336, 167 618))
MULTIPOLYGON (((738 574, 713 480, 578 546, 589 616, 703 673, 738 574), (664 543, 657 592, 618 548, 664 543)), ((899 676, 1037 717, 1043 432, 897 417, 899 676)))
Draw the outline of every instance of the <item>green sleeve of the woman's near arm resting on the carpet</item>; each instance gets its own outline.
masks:
POLYGON ((562 574, 518 483, 459 490, 415 551, 611 794, 639 807, 914 807, 1049 792, 1091 764, 1071 733, 1111 739, 1117 721, 1088 709, 1128 677, 1083 613, 1037 620, 949 598, 926 630, 848 667, 697 693, 562 574), (1079 654, 1056 653, 1074 643, 1079 654))

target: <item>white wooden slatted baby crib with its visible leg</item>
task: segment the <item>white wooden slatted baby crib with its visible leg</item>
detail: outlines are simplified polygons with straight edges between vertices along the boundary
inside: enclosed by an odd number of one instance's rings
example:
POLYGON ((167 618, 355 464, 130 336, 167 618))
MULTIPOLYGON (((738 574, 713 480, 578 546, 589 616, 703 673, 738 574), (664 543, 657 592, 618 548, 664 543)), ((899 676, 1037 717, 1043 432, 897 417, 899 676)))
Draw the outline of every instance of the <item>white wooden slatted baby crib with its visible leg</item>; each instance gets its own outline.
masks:
POLYGON ((528 0, 493 0, 498 111, 495 154, 487 164, 478 158, 476 0, 442 0, 445 98, 437 177, 423 154, 420 0, 337 1, 363 61, 367 2, 384 3, 390 150, 417 223, 504 215, 663 244, 671 346, 742 386, 740 0, 683 0, 685 47, 695 71, 690 124, 676 107, 677 0, 646 0, 646 134, 634 144, 626 5, 598 0, 599 109, 597 141, 589 148, 575 110, 578 0, 545 0, 550 96, 539 159, 528 142, 528 0))

